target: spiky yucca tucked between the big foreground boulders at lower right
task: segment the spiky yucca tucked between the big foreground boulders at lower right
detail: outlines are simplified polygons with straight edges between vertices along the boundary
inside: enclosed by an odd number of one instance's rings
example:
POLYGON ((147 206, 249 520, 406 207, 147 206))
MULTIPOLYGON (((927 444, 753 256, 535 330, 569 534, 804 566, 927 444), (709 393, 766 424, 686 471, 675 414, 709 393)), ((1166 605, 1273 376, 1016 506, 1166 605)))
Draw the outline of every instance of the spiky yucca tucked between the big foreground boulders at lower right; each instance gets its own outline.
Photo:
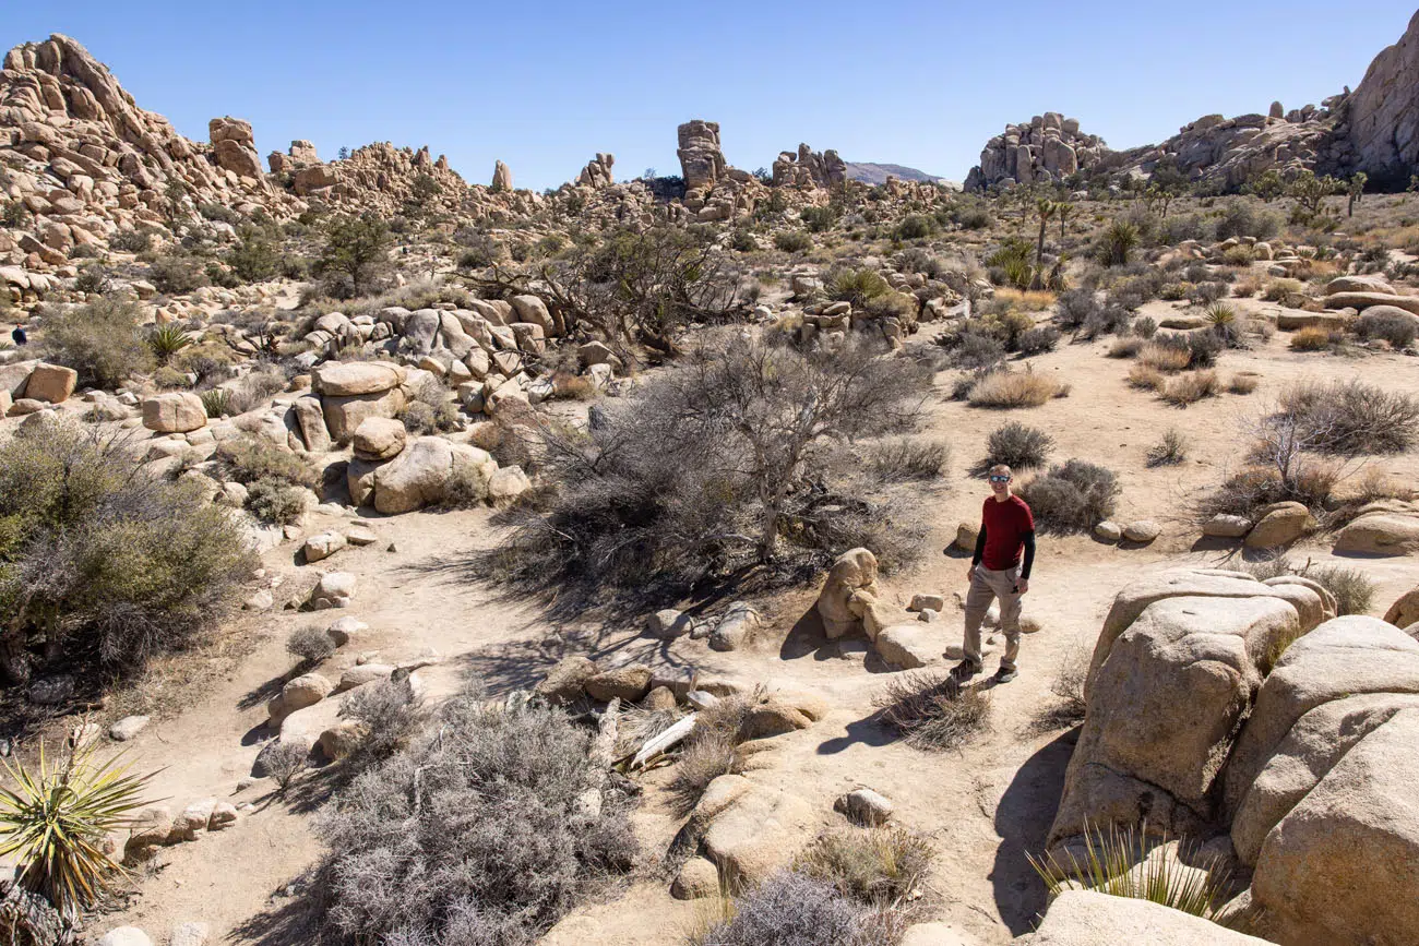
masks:
POLYGON ((1168 838, 1148 838, 1147 831, 1147 824, 1137 834, 1132 827, 1115 824, 1104 834, 1086 824, 1083 861, 1073 851, 1063 857, 1026 857, 1044 881, 1051 901, 1083 886, 1095 894, 1148 901, 1225 926, 1244 922, 1226 906, 1232 874, 1220 858, 1189 857, 1192 867, 1188 867, 1178 857, 1149 857, 1154 847, 1162 847, 1168 838))

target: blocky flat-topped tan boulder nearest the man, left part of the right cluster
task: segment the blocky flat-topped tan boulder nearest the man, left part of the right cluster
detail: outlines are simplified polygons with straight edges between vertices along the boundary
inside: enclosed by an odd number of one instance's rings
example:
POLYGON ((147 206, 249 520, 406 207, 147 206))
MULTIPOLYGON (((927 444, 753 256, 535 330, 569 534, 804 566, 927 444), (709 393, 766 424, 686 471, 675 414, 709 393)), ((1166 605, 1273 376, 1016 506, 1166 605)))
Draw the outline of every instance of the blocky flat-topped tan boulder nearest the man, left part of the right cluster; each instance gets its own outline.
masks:
POLYGON ((1111 824, 1196 834, 1274 655, 1335 616, 1313 583, 1178 570, 1118 593, 1050 844, 1111 824))

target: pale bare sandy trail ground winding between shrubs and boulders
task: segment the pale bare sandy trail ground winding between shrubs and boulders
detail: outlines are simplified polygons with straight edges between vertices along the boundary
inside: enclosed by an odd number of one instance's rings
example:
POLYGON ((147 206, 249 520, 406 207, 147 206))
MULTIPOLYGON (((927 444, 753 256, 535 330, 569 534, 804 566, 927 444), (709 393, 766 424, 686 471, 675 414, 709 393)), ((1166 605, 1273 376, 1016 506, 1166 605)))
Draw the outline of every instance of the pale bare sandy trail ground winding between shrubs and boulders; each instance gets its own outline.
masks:
MULTIPOLYGON (((379 660, 437 652, 443 662, 420 671, 431 695, 454 692, 468 675, 485 679, 491 692, 501 692, 535 682, 563 648, 595 640, 597 652, 612 662, 653 660, 820 692, 833 706, 830 715, 807 730, 775 739, 775 747, 758 757, 762 767, 753 777, 792 786, 820 813, 824 827, 837 823, 832 803, 843 791, 867 786, 884 793, 894 801, 898 821, 929 834, 937 847, 929 912, 981 943, 1003 943, 1029 930, 1044 906, 1043 886, 1025 855, 1043 845, 1071 752, 1069 730, 1042 729, 1037 723, 1056 703, 1050 682, 1071 648, 1093 647, 1122 584, 1176 564, 1236 562, 1226 550, 1195 550, 1198 530, 1182 521, 1182 513, 1191 496, 1240 462, 1239 418, 1298 380, 1384 379, 1388 387, 1419 391, 1419 372, 1409 359, 1297 355, 1286 349, 1286 336, 1280 335, 1257 350, 1222 357, 1223 377, 1239 370, 1261 376, 1254 394, 1225 394, 1178 410, 1128 389, 1124 376, 1130 363, 1105 359, 1107 345, 1064 345, 1033 359, 1034 370, 1057 372, 1073 386, 1069 397, 1040 408, 999 413, 951 403, 945 400, 949 374, 938 379, 938 396, 928 403, 925 433, 951 443, 952 469, 922 509, 931 522, 931 552, 914 572, 885 580, 887 597, 895 606, 904 607, 917 591, 948 597, 964 593, 965 560, 944 556, 941 549, 954 539, 959 521, 978 516, 983 488, 965 471, 979 458, 986 434, 1006 420, 1050 431, 1057 441, 1056 461, 1080 457, 1117 469, 1122 481, 1120 521, 1151 518, 1164 525, 1162 539, 1148 549, 1121 549, 1081 536, 1042 539, 1026 613, 1037 617, 1043 630, 1025 638, 1019 679, 992 689, 989 730, 958 753, 924 753, 897 743, 873 718, 874 698, 887 679, 883 668, 860 655, 840 658, 836 648, 793 630, 810 607, 815 589, 759 601, 769 625, 763 640, 746 651, 719 654, 688 638, 668 645, 647 641, 637 637, 634 627, 597 628, 597 637, 589 628, 553 625, 532 603, 508 601, 495 590, 467 583, 457 563, 495 533, 487 512, 379 519, 380 540, 372 546, 346 549, 316 566, 298 566, 292 559, 295 546, 288 543, 267 553, 265 564, 288 576, 277 591, 278 604, 292 590, 314 583, 316 570, 359 576, 359 591, 346 613, 369 623, 373 637, 342 648, 321 669, 336 678, 360 651, 379 651, 379 660), (1168 425, 1189 438, 1191 458, 1179 467, 1149 469, 1147 451, 1168 425), (389 543, 397 550, 387 550, 389 543)), ((1413 454, 1374 465, 1408 481, 1419 474, 1419 457, 1413 454)), ((315 518, 307 532, 336 522, 315 518)), ((1314 543, 1293 556, 1331 562, 1327 549, 1314 543)), ((1395 597, 1419 583, 1415 559, 1344 563, 1361 564, 1378 583, 1372 613, 1382 614, 1395 597)), ((264 784, 240 794, 234 790, 260 750, 265 712, 258 696, 292 667, 284 650, 288 634, 305 624, 324 625, 338 614, 244 614, 226 633, 258 635, 261 642, 250 657, 200 702, 177 716, 155 720, 131 743, 139 767, 165 766, 156 793, 170 797, 175 810, 210 796, 255 807, 224 833, 166 850, 166 867, 142 882, 142 895, 125 909, 96 918, 98 930, 133 923, 163 942, 175 923, 204 920, 217 942, 301 942, 301 912, 292 906, 299 901, 287 896, 287 888, 319 857, 309 817, 298 804, 265 796, 264 784)), ((959 613, 949 604, 931 627, 942 648, 959 642, 959 613)), ((988 671, 993 667, 995 660, 988 657, 988 671)), ((667 779, 666 770, 646 776, 646 800, 636 814, 647 862, 666 850, 680 827, 657 791, 667 779)), ((651 874, 647 869, 646 877, 610 899, 576 911, 546 942, 677 942, 702 908, 674 901, 668 884, 651 874)))

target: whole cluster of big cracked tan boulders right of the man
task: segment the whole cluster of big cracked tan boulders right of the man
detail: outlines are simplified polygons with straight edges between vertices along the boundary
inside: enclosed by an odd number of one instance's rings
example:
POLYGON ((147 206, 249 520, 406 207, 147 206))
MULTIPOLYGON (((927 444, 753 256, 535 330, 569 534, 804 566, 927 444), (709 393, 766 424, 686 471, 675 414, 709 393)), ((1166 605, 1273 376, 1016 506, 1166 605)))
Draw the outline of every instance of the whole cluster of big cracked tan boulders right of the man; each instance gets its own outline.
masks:
POLYGON ((1168 572, 1120 591, 1087 706, 1051 848, 1222 835, 1271 942, 1419 929, 1419 641, 1305 579, 1168 572))

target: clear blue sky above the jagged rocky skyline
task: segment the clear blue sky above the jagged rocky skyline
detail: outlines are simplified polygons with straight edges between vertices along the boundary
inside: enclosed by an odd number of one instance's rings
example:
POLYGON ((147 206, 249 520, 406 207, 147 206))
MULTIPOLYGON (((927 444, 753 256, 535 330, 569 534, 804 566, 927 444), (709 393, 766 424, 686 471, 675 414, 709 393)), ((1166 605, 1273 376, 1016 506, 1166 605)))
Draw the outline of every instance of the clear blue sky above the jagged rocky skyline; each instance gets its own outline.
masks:
POLYGON ((0 43, 65 33, 206 140, 248 119, 265 155, 429 145, 558 186, 596 152, 678 173, 675 125, 718 121, 753 170, 809 142, 961 180, 1007 122, 1080 119, 1114 148, 1192 119, 1355 87, 1413 3, 712 3, 0 0, 0 43))

